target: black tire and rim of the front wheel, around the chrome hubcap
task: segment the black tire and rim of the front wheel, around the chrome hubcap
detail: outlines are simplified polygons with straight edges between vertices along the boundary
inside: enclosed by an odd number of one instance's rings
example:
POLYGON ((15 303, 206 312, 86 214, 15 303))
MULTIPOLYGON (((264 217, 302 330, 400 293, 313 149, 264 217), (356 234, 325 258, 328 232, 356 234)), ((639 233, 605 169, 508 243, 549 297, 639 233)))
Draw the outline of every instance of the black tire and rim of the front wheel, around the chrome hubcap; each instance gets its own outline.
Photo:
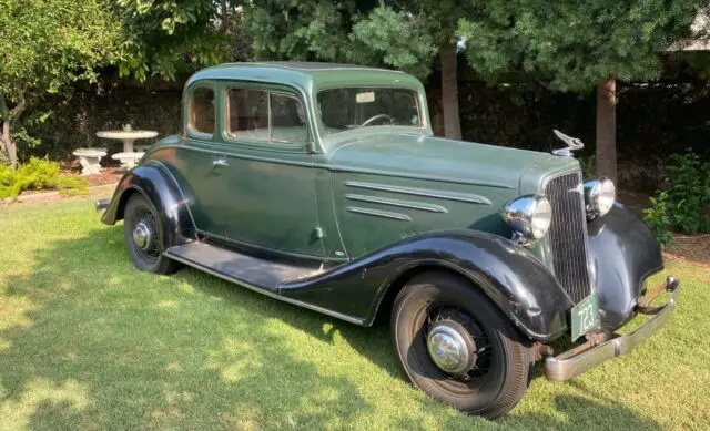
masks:
POLYGON ((527 390, 534 365, 529 342, 463 277, 445 271, 414 277, 393 304, 390 331, 409 380, 458 410, 495 419, 527 390), (466 328, 477 353, 473 369, 462 374, 440 369, 427 350, 427 330, 450 320, 466 328))

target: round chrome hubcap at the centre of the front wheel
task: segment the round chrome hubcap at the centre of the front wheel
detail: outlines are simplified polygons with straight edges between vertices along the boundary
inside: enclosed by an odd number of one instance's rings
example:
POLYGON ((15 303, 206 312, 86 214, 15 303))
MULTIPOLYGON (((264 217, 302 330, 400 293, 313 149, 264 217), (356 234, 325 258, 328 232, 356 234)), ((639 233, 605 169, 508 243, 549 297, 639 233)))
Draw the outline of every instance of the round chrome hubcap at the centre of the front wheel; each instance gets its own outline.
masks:
POLYGON ((452 374, 465 374, 476 363, 476 347, 462 325, 453 320, 432 327, 426 347, 434 363, 452 374))

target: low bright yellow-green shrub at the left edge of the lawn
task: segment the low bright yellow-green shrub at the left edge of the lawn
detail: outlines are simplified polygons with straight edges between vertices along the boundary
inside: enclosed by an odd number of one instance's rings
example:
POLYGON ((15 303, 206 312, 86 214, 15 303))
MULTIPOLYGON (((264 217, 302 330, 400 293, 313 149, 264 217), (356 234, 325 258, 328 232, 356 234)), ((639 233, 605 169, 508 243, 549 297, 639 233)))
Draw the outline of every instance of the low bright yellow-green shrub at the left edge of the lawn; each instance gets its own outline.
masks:
POLYGON ((83 193, 84 178, 70 178, 60 172, 59 163, 47 158, 31 157, 26 164, 12 170, 0 164, 0 199, 16 198, 22 191, 58 189, 64 194, 83 193))

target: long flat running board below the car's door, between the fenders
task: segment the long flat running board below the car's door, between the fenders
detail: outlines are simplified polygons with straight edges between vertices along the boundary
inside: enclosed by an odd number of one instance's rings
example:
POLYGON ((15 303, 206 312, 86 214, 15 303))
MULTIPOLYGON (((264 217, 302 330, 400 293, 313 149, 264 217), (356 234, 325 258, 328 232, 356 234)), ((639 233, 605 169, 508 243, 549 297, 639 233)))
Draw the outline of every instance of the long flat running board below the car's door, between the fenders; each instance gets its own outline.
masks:
POLYGON ((316 274, 318 269, 260 259, 202 242, 170 247, 164 255, 227 281, 274 294, 284 283, 316 274))

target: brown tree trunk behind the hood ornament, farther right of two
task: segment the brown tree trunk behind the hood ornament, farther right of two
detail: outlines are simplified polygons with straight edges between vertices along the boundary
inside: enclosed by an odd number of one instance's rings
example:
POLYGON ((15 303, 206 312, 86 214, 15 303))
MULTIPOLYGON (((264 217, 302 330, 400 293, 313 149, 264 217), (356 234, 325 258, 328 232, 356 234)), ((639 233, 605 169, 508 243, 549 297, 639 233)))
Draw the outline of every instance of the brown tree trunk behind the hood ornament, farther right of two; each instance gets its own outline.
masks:
POLYGON ((597 172, 617 181, 617 80, 597 83, 597 172))

